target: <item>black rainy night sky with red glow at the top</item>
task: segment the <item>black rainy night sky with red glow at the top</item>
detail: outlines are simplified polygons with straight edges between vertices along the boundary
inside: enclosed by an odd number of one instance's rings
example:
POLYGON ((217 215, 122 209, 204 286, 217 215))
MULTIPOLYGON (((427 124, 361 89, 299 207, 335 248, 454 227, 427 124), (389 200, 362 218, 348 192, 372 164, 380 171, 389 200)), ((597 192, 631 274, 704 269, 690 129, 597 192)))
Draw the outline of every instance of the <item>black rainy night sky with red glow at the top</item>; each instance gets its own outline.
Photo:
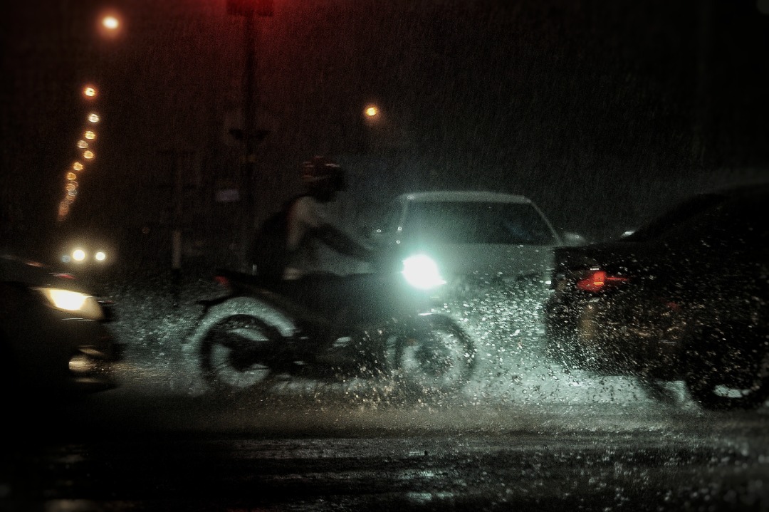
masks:
MULTIPOLYGON (((6 8, 6 240, 85 228, 126 244, 148 243, 142 228, 165 240, 181 170, 185 239, 221 243, 237 205, 214 198, 238 181, 243 148, 228 129, 242 125, 245 61, 244 19, 225 3, 6 8), (106 7, 123 16, 112 40, 95 29, 106 7), (57 223, 88 80, 102 90, 98 156, 57 223)), ((275 0, 275 14, 257 19, 255 125, 269 132, 258 208, 292 194, 298 164, 319 153, 350 171, 351 222, 401 191, 484 188, 526 194, 591 238, 691 191, 763 179, 762 10, 747 0, 275 0), (373 127, 361 118, 369 101, 384 116, 373 127)))

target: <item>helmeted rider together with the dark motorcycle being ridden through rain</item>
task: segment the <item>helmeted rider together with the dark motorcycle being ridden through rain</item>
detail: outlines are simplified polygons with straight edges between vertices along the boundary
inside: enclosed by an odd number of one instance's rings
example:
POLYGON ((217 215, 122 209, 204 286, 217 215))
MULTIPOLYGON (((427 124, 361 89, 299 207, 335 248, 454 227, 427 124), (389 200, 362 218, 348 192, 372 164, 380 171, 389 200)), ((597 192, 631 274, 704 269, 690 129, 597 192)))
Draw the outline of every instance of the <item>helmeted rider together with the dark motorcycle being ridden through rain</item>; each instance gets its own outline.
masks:
MULTIPOLYGON (((201 370, 212 386, 249 387, 263 381, 272 370, 310 372, 306 375, 321 370, 327 376, 329 371, 335 375, 340 371, 378 375, 401 367, 407 358, 413 359, 415 349, 408 350, 406 344, 414 347, 422 343, 429 344, 431 352, 424 351, 418 361, 410 361, 415 375, 443 387, 448 381, 453 386, 466 380, 464 376, 454 380, 449 375, 454 364, 461 367, 463 375, 472 371, 474 359, 465 355, 473 353, 472 341, 461 327, 451 318, 423 315, 414 309, 402 294, 398 276, 392 279, 387 264, 391 258, 381 258, 387 251, 371 251, 332 224, 326 208, 345 189, 344 178, 344 171, 328 158, 305 162, 305 193, 286 201, 255 233, 251 274, 224 274, 225 278, 235 278, 233 293, 201 301, 207 310, 191 339, 199 340, 201 370), (278 245, 281 247, 276 248, 278 245), (324 246, 368 261, 372 268, 335 272, 334 267, 316 258, 324 246), (262 258, 259 251, 266 256, 262 254, 262 258), (287 263, 275 263, 277 260, 287 263), (251 294, 256 299, 253 307, 248 300, 241 302, 244 295, 251 294), (231 308, 209 309, 231 300, 231 308), (251 344, 251 337, 241 334, 241 330, 251 328, 266 337, 264 343, 251 344), (464 348, 454 351, 447 347, 441 351, 440 361, 433 364, 429 355, 443 343, 432 335, 436 331, 450 333, 451 340, 458 340, 464 348), (220 357, 220 347, 226 349, 226 357, 220 357), (454 358, 451 354, 462 355, 454 358), (266 371, 251 371, 257 362, 266 371)), ((420 385, 424 389, 424 384, 420 385)))

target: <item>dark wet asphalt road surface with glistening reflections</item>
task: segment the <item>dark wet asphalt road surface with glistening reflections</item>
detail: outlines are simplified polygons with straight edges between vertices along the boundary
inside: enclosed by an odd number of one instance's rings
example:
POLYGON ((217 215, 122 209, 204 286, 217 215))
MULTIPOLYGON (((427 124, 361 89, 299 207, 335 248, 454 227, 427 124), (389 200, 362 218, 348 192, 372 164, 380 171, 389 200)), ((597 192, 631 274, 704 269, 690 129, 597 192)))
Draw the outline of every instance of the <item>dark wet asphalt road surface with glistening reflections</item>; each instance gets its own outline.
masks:
POLYGON ((769 510, 766 411, 110 393, 6 439, 0 510, 769 510))

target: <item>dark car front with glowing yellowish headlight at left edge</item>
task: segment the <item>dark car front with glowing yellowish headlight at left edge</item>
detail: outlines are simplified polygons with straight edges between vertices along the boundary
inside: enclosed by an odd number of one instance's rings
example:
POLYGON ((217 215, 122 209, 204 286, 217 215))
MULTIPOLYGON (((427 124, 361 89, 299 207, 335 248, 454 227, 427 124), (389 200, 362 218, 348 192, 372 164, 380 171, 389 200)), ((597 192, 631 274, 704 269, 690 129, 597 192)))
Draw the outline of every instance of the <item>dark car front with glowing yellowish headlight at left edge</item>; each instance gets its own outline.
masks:
MULTIPOLYGON (((22 394, 83 394, 117 385, 113 304, 72 274, 13 254, 0 257, 0 380, 22 394)), ((8 397, 11 398, 11 397, 8 397)))

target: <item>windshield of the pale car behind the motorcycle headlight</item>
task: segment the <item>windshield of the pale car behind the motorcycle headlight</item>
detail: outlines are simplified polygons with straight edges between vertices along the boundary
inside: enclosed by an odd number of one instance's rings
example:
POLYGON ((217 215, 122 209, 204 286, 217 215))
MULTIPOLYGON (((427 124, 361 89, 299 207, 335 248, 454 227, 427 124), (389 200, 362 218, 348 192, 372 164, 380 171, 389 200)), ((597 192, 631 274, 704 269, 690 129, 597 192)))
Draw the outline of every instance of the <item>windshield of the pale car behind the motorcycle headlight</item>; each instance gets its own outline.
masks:
POLYGON ((403 236, 443 244, 556 243, 534 206, 495 201, 411 201, 403 236))

